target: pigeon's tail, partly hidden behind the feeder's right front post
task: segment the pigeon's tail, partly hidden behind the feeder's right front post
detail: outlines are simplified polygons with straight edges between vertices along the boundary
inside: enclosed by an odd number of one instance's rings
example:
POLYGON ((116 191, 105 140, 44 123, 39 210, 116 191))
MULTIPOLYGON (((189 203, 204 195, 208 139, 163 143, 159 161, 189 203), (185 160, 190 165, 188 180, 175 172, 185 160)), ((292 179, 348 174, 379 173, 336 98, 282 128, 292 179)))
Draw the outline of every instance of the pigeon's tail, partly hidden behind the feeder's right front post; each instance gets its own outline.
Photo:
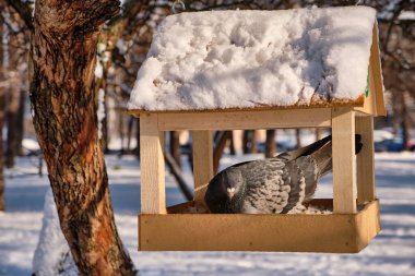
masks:
MULTIPOLYGON (((361 135, 355 135, 355 154, 358 154, 361 151, 361 135)), ((310 154, 311 157, 316 160, 317 167, 320 170, 320 176, 324 176, 325 173, 332 170, 332 142, 324 144, 318 151, 315 151, 310 154)))

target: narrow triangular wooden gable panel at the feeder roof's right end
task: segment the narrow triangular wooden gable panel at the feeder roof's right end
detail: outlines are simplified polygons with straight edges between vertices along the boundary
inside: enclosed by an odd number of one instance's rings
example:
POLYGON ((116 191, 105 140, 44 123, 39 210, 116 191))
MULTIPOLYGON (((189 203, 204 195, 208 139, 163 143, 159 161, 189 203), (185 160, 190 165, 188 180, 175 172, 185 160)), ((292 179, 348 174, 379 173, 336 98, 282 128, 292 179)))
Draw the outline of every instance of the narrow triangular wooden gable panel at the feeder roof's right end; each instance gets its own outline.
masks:
POLYGON ((378 25, 377 22, 374 24, 372 31, 372 41, 370 47, 370 70, 372 80, 372 88, 376 94, 376 113, 375 116, 386 116, 387 109, 384 107, 383 99, 383 84, 382 84, 382 69, 380 64, 380 55, 379 55, 379 38, 378 38, 378 25))

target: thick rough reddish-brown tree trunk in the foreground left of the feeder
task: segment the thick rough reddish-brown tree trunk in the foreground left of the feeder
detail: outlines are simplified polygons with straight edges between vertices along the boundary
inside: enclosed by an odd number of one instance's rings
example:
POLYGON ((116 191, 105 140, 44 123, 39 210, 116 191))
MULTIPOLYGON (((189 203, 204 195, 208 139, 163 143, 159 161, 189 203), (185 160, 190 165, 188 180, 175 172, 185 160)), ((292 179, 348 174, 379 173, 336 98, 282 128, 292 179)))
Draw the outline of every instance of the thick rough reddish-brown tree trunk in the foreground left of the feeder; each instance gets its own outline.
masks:
POLYGON ((114 0, 38 0, 34 15, 34 125, 81 275, 135 274, 114 220, 94 89, 100 25, 118 14, 118 7, 114 0))

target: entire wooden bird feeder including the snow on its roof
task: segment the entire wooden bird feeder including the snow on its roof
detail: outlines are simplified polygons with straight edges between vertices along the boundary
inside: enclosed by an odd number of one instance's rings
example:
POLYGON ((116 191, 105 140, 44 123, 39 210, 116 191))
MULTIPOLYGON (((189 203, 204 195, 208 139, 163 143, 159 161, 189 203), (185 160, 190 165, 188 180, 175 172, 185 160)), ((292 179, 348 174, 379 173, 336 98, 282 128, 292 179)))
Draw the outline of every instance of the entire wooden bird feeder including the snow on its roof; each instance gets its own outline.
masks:
POLYGON ((129 103, 130 113, 140 117, 139 250, 359 252, 380 231, 372 132, 374 117, 386 115, 382 89, 376 14, 370 8, 168 16, 155 35, 129 103), (244 56, 247 63, 240 65, 244 61, 221 47, 248 55, 244 56), (269 47, 274 47, 273 53, 266 53, 269 47), (247 61, 250 50, 257 52, 257 61, 247 61), (191 58, 198 55, 203 61, 190 62, 200 61, 191 58), (313 55, 321 63, 310 64, 313 55), (301 62, 309 68, 298 68, 301 62), (286 68, 288 79, 294 74, 290 83, 303 83, 296 96, 284 94, 296 89, 284 83, 287 80, 280 71, 286 68), (180 79, 180 73, 186 77, 180 79), (210 83, 212 75, 220 83, 210 83), (261 85, 270 80, 273 85, 261 94, 261 85), (210 100, 217 95, 220 99, 210 100), (213 177, 212 131, 278 128, 331 128, 333 199, 316 199, 313 204, 332 208, 332 214, 205 212, 204 192, 213 177), (192 133, 194 200, 166 207, 164 132, 183 130, 192 133), (364 144, 357 157, 355 133, 361 134, 364 144))

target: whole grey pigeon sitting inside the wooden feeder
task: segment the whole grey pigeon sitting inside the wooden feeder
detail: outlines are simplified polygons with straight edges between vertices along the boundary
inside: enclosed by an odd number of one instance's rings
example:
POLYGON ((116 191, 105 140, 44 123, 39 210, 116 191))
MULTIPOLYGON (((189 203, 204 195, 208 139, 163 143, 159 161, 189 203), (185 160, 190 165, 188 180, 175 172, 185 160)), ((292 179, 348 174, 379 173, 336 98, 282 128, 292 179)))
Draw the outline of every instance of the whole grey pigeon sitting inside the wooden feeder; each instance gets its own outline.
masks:
MULTIPOLYGON (((356 134, 356 154, 360 141, 356 134)), ((318 180, 331 170, 329 135, 296 151, 222 170, 209 182, 204 201, 216 214, 299 213, 312 199, 318 180)))

